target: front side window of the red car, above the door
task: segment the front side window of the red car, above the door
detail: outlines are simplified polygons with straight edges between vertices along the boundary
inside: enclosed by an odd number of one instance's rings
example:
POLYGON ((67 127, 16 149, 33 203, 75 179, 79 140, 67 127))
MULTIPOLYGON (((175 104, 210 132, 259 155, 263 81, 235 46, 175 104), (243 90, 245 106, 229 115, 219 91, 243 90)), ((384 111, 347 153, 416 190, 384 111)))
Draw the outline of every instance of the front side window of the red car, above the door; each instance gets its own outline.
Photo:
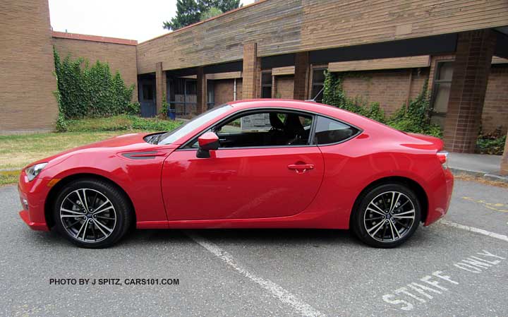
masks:
MULTIPOLYGON (((219 136, 220 148, 308 145, 313 116, 267 111, 234 116, 210 131, 219 136)), ((197 139, 191 147, 198 148, 197 139)))

